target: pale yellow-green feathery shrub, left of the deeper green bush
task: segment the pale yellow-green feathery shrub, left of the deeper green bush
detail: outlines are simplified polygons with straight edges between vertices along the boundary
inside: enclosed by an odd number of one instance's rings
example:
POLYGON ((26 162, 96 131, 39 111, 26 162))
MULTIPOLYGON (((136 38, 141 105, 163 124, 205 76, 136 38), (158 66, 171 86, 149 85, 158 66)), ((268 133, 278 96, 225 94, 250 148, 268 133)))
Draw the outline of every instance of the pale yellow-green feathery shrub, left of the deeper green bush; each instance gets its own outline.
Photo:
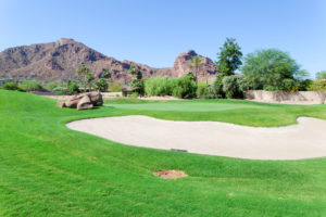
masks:
POLYGON ((147 95, 172 95, 173 79, 168 77, 151 77, 145 80, 147 95))

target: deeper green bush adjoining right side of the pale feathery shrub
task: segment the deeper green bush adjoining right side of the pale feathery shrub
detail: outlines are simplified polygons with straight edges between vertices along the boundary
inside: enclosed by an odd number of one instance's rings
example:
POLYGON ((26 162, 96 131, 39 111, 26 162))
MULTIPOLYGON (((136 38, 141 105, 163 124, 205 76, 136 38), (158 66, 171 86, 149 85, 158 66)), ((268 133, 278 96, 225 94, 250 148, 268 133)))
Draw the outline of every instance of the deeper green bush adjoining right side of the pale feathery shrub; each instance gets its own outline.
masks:
POLYGON ((195 76, 188 74, 173 81, 173 97, 183 99, 196 98, 197 85, 195 76))

